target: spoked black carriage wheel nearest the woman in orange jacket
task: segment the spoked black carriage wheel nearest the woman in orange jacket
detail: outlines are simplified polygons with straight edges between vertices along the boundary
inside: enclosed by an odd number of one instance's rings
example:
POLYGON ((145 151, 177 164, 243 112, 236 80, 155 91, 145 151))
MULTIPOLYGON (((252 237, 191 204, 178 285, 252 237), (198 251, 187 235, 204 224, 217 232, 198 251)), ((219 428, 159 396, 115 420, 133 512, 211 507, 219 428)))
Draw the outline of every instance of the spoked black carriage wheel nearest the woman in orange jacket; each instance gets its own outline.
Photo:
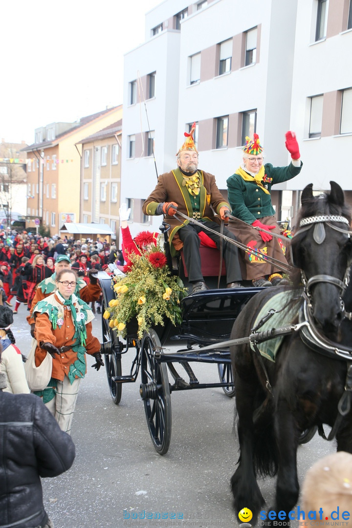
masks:
MULTIPOLYGON (((106 309, 105 300, 101 303, 101 313, 103 314, 106 309)), ((121 401, 122 383, 113 381, 112 378, 115 376, 122 375, 121 369, 121 354, 115 352, 115 343, 118 339, 116 332, 112 331, 109 326, 109 319, 102 320, 102 334, 103 334, 103 346, 101 347, 101 353, 104 353, 104 363, 108 378, 108 385, 111 394, 112 401, 118 405, 121 401)))

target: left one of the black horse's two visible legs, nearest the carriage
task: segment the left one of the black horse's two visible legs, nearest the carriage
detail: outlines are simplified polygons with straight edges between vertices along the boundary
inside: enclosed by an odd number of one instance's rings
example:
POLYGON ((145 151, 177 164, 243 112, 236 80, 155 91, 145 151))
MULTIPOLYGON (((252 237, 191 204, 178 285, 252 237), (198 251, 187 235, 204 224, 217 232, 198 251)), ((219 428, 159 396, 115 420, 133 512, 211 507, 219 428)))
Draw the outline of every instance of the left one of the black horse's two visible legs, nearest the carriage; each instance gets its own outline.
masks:
POLYGON ((238 514, 244 507, 250 507, 255 524, 260 508, 265 502, 256 482, 253 464, 255 441, 253 412, 256 386, 248 381, 242 381, 237 375, 235 386, 240 458, 239 465, 231 478, 231 490, 236 513, 238 514))

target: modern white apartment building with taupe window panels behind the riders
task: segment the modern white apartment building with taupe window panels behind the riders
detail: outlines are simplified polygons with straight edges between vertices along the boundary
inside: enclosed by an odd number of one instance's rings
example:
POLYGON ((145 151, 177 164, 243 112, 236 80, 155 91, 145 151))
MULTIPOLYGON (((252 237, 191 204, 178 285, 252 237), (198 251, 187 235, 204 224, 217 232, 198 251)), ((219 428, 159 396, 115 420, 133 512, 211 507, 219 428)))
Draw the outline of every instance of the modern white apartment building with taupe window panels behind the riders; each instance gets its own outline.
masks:
POLYGON ((121 200, 132 234, 158 230, 161 216, 146 218, 141 204, 155 165, 176 167, 194 121, 199 168, 225 196, 246 135, 258 133, 266 161, 280 166, 294 130, 303 168, 275 186, 278 218, 294 220, 310 182, 335 180, 352 203, 351 171, 338 161, 352 148, 352 0, 165 0, 146 14, 145 36, 125 55, 121 200))

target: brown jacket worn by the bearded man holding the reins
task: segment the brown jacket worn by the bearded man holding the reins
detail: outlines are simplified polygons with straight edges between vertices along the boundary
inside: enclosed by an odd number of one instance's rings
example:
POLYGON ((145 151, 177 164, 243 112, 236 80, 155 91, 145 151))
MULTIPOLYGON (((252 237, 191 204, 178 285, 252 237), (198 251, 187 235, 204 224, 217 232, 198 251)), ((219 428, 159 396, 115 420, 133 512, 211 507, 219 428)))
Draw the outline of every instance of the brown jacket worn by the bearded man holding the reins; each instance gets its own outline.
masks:
MULTIPOLYGON (((223 195, 218 190, 215 183, 215 176, 213 174, 198 171, 201 177, 201 191, 199 197, 201 200, 200 205, 200 217, 203 220, 220 223, 220 218, 215 216, 222 206, 227 206, 230 209, 229 204, 224 200, 223 195)), ((182 185, 183 175, 179 168, 174 171, 160 174, 158 177, 158 184, 154 191, 150 193, 147 200, 143 204, 143 212, 146 215, 155 215, 156 209, 159 203, 163 202, 176 202, 178 205, 177 210, 187 216, 193 218, 193 209, 191 199, 186 186, 182 185)), ((189 220, 183 220, 180 223, 174 216, 165 216, 165 220, 170 224, 169 240, 173 243, 176 251, 179 251, 183 242, 178 237, 177 231, 187 225, 189 220)), ((170 248, 172 249, 172 247, 170 248)), ((175 253, 175 251, 172 251, 175 253)))

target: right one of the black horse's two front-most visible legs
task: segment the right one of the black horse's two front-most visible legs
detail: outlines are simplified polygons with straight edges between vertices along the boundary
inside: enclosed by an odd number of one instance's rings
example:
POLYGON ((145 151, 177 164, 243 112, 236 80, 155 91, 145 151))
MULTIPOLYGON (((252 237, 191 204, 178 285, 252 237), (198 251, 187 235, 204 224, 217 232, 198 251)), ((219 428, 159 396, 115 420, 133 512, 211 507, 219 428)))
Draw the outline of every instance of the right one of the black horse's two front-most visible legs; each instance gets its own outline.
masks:
POLYGON ((299 484, 297 477, 298 431, 295 419, 286 400, 279 400, 275 414, 275 436, 279 452, 279 470, 276 484, 276 512, 286 515, 298 501, 299 484))

